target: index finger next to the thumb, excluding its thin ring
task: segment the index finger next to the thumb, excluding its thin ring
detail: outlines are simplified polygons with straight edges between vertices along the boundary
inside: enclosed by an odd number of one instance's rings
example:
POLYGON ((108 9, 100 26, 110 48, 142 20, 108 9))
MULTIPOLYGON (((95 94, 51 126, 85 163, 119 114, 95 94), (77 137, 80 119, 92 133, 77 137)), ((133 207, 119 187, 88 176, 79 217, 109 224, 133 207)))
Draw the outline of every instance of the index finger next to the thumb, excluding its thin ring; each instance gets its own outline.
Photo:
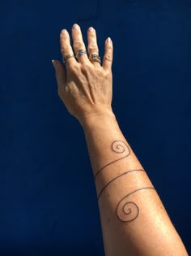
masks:
MULTIPOLYGON (((61 45, 61 52, 62 52, 62 59, 65 58, 66 55, 74 54, 72 47, 70 45, 70 36, 66 29, 62 29, 60 34, 60 45, 61 45)), ((77 63, 75 58, 66 59, 66 65, 72 66, 77 63)))

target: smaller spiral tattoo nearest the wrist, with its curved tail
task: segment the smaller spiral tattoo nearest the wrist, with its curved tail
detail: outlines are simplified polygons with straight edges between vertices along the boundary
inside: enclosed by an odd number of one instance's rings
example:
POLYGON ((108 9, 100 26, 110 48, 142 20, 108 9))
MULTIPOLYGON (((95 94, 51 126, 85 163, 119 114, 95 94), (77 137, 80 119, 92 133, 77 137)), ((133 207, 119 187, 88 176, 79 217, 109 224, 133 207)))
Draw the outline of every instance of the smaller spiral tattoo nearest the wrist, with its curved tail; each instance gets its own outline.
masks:
POLYGON ((130 150, 128 145, 126 145, 123 141, 114 141, 112 142, 112 151, 114 151, 117 154, 122 154, 125 151, 127 151, 127 154, 125 155, 125 157, 122 158, 118 158, 117 160, 112 161, 111 163, 106 164, 104 167, 102 167, 99 171, 97 171, 94 179, 96 180, 97 175, 100 173, 100 171, 102 171, 105 167, 107 167, 108 165, 115 163, 123 158, 127 158, 130 154, 130 150))

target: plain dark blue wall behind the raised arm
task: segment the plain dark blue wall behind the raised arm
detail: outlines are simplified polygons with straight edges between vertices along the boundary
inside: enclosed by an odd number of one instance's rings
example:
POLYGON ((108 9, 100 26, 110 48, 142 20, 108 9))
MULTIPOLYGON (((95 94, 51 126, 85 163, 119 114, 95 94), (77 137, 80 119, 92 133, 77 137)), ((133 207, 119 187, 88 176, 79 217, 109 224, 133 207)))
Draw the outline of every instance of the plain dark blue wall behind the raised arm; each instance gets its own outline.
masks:
POLYGON ((1 1, 0 255, 104 255, 87 145, 52 59, 74 23, 114 45, 112 107, 191 253, 190 0, 1 1))

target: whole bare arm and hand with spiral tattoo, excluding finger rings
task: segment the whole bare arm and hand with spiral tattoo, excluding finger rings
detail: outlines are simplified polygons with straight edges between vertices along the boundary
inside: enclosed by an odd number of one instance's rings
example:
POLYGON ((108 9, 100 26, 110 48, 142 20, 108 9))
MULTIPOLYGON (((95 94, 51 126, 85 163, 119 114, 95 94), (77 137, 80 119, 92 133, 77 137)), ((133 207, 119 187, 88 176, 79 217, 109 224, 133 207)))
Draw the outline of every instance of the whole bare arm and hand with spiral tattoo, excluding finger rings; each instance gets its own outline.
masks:
MULTIPOLYGON (((62 56, 86 49, 79 27, 61 33, 62 56)), ((99 53, 96 30, 87 31, 87 52, 99 53)), ((107 256, 187 256, 185 246, 146 171, 125 140, 112 111, 112 41, 105 41, 103 64, 87 54, 54 61, 57 92, 79 120, 91 158, 107 256)))

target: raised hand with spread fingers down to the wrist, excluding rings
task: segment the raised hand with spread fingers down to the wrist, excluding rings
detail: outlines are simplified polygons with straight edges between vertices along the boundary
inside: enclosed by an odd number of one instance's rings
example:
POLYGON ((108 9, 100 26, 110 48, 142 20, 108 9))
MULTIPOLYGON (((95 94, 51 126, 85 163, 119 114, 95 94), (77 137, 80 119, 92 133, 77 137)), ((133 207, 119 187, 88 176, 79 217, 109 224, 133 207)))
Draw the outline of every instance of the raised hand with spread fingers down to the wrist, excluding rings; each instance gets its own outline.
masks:
MULTIPOLYGON (((65 30, 66 31, 66 30, 65 30)), ((62 58, 67 54, 76 54, 78 50, 86 50, 83 35, 79 26, 73 26, 72 37, 74 52, 70 46, 69 33, 60 34, 62 58)), ((87 30, 88 54, 99 54, 96 30, 87 30)), ((59 61, 53 61, 57 78, 57 93, 71 115, 79 122, 90 116, 101 115, 112 111, 112 41, 105 41, 103 65, 91 62, 87 54, 83 54, 78 60, 66 59, 66 69, 59 61)))

